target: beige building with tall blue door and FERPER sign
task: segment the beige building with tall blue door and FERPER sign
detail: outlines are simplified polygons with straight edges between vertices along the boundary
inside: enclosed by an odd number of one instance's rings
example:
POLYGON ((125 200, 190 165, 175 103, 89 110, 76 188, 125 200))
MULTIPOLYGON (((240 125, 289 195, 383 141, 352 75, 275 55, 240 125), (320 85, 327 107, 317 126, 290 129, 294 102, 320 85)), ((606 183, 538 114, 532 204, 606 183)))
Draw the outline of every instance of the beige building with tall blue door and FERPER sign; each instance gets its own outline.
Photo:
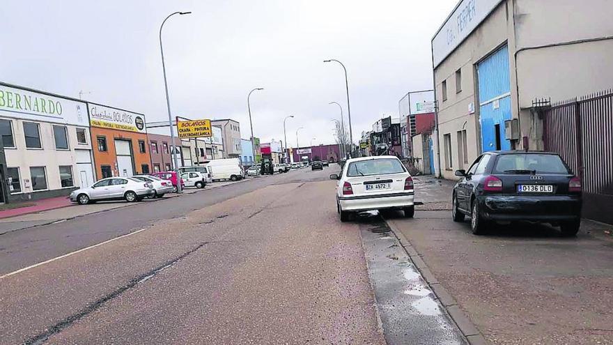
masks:
POLYGON ((433 38, 437 175, 484 151, 542 150, 533 101, 613 86, 613 2, 463 0, 433 38))

